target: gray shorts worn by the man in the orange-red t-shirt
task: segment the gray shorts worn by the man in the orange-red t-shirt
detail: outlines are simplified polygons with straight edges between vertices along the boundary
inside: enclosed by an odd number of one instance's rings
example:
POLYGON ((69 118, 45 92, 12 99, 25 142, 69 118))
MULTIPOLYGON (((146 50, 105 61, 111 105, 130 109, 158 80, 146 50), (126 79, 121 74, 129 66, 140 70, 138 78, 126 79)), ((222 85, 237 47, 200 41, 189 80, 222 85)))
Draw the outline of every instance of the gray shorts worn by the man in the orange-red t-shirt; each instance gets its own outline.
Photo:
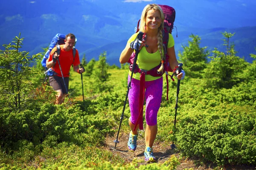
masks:
MULTIPOLYGON (((66 84, 66 87, 67 87, 67 92, 68 92, 69 77, 64 77, 64 81, 65 81, 65 84, 66 84)), ((61 90, 63 94, 67 94, 62 77, 49 76, 49 83, 50 83, 50 86, 52 86, 52 88, 55 91, 61 90)))

